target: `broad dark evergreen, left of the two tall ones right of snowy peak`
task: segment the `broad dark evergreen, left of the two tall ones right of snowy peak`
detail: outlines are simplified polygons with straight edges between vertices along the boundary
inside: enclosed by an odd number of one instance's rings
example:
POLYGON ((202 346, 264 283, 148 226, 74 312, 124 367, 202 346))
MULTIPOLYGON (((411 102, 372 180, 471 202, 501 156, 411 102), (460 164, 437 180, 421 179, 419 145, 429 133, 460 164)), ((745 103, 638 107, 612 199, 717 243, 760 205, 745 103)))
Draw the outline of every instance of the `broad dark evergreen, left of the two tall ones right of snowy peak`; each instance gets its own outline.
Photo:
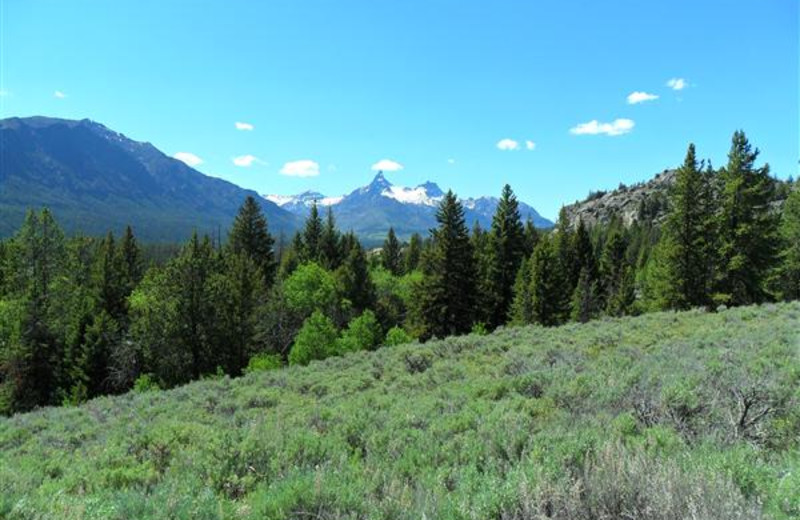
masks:
POLYGON ((469 332, 475 312, 475 259, 464 208, 452 191, 442 199, 436 220, 417 295, 424 338, 469 332))

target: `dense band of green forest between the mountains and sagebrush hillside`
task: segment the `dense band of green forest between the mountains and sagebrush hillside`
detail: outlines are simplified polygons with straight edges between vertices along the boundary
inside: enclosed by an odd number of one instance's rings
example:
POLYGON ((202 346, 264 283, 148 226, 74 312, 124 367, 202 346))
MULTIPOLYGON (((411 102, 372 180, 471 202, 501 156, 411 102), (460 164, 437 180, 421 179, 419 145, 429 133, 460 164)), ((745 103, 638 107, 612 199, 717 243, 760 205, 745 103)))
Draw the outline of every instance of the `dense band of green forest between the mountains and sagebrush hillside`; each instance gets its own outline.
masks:
POLYGON ((0 242, 0 412, 132 388, 307 364, 501 326, 716 309, 800 298, 800 190, 758 166, 743 132, 712 168, 690 145, 664 220, 552 231, 520 219, 509 186, 490 229, 449 192, 430 236, 379 251, 312 207, 289 243, 248 198, 227 241, 176 254, 67 238, 29 212, 0 242))

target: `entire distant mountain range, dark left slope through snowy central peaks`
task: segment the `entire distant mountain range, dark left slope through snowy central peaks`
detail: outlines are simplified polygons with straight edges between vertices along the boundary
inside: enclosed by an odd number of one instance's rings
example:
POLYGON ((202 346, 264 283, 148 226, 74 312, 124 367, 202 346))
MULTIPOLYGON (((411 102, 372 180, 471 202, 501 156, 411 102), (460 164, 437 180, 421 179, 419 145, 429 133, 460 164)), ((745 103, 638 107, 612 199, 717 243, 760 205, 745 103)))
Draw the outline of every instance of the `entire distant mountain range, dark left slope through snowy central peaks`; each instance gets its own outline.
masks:
MULTIPOLYGON (((390 226, 401 238, 427 234, 436 226, 444 193, 433 182, 395 186, 379 173, 370 184, 339 197, 316 192, 259 197, 88 119, 0 120, 0 237, 13 234, 29 208, 44 206, 70 233, 120 232, 131 224, 147 241, 184 240, 194 230, 224 234, 248 195, 261 201, 276 235, 299 229, 317 201, 333 208, 341 229, 375 244, 390 226)), ((476 221, 491 225, 497 198, 462 202, 470 226, 476 221)), ((520 213, 538 227, 552 226, 526 204, 520 203, 520 213)))

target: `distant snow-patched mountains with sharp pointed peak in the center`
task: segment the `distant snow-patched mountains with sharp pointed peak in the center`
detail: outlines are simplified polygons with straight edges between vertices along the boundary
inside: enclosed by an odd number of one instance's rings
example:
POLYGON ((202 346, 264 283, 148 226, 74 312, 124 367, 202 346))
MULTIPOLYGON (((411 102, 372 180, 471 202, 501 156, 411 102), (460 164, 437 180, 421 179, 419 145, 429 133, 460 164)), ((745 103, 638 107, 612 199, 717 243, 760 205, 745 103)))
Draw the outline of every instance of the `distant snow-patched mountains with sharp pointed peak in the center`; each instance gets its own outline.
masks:
MULTIPOLYGON (((499 190, 499 187, 498 187, 499 190)), ((328 197, 316 191, 298 195, 264 195, 266 200, 299 217, 308 215, 316 202, 320 209, 329 207, 340 228, 353 230, 365 240, 385 237, 389 227, 394 227, 401 238, 413 233, 426 234, 436 226, 436 208, 444 192, 436 183, 426 182, 415 187, 397 186, 389 182, 382 172, 361 188, 347 195, 328 197)), ((478 222, 484 228, 492 223, 497 209, 497 197, 462 199, 468 225, 478 222)), ((531 206, 520 202, 520 215, 531 219, 536 227, 549 228, 553 223, 539 215, 531 206)))

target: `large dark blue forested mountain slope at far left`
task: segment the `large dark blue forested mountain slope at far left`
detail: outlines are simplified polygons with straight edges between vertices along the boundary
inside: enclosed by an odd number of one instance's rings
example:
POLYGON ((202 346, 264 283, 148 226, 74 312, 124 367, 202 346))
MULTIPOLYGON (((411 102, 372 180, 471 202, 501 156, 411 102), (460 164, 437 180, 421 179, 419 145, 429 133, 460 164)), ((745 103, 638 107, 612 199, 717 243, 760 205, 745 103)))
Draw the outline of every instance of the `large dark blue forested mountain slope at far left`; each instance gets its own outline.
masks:
MULTIPOLYGON (((4 119, 0 149, 0 237, 28 208, 49 206, 68 231, 130 223, 145 240, 182 240, 194 229, 225 231, 245 197, 257 197, 88 119, 4 119)), ((297 227, 297 217, 261 200, 274 232, 297 227)))

